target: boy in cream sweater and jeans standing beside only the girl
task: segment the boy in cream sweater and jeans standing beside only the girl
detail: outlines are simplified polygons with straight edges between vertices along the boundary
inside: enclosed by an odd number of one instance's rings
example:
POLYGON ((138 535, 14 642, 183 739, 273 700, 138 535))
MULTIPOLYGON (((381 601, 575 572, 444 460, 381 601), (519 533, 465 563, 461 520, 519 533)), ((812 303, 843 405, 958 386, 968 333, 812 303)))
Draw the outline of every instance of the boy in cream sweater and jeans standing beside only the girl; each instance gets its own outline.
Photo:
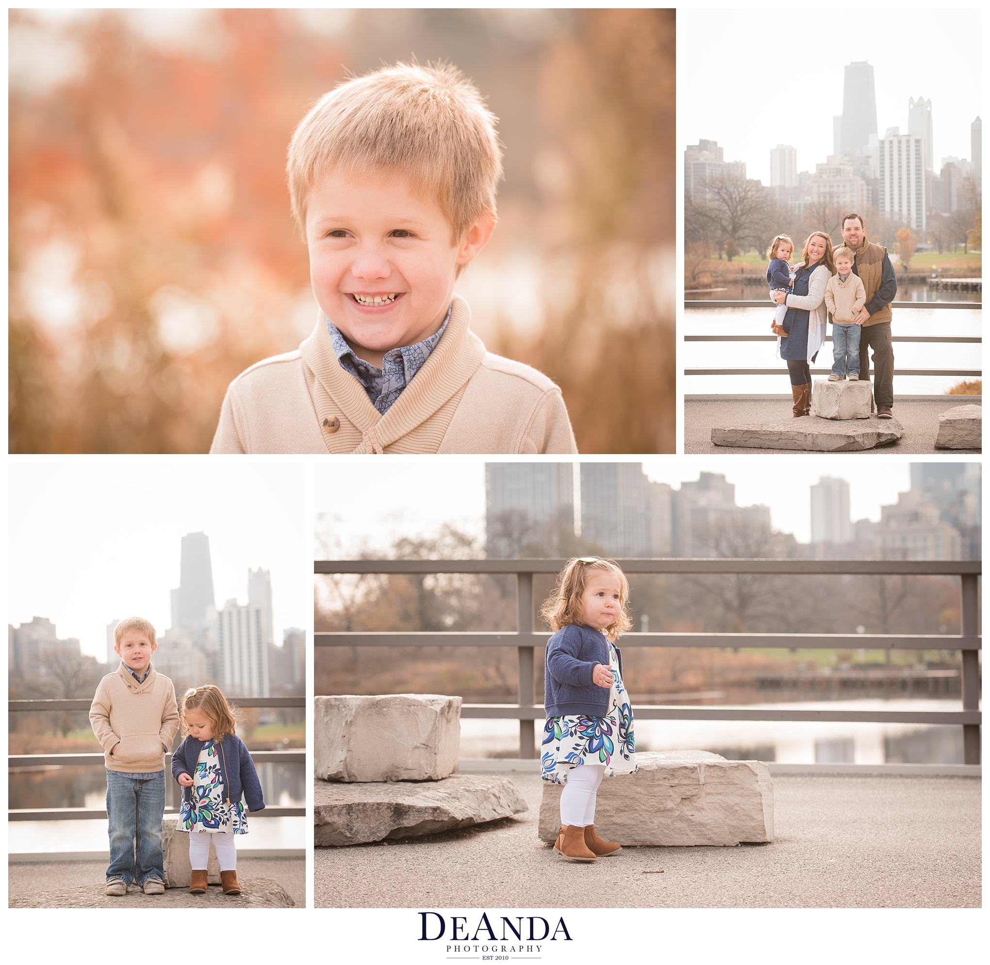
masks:
POLYGON ((107 895, 132 882, 146 895, 165 892, 161 817, 165 810, 165 753, 179 729, 175 688, 151 667, 154 627, 140 616, 114 629, 121 665, 96 688, 89 722, 104 751, 110 866, 107 895))

